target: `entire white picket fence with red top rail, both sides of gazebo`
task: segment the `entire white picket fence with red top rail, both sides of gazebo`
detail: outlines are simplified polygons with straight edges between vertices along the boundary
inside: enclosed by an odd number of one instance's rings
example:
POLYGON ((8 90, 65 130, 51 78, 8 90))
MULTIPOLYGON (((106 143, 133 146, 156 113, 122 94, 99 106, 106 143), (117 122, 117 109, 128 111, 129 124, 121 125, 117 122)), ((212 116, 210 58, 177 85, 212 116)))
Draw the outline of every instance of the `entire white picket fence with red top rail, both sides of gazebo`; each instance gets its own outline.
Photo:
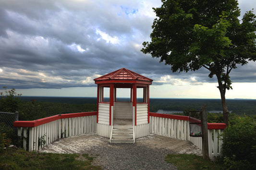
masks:
MULTIPOLYGON (((149 113, 149 133, 189 140, 202 149, 202 138, 189 136, 189 117, 171 114, 149 113)), ((16 121, 18 136, 23 138, 23 148, 38 150, 49 143, 68 136, 96 132, 97 112, 60 114, 35 121, 16 121)), ((209 158, 220 155, 225 124, 208 124, 209 158)))

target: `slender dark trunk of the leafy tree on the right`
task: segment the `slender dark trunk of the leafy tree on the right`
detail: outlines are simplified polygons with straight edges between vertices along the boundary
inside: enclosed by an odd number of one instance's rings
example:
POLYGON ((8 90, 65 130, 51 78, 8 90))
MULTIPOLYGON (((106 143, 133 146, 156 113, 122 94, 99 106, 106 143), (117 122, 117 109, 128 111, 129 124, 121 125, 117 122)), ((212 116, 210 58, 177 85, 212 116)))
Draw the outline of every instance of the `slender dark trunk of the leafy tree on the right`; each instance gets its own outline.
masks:
POLYGON ((224 89, 222 81, 220 79, 220 76, 217 76, 218 83, 219 83, 219 92, 220 92, 220 97, 221 97, 221 103, 222 103, 222 110, 223 110, 223 118, 224 118, 224 123, 226 125, 229 124, 229 110, 227 107, 227 102, 226 102, 226 89, 224 89))

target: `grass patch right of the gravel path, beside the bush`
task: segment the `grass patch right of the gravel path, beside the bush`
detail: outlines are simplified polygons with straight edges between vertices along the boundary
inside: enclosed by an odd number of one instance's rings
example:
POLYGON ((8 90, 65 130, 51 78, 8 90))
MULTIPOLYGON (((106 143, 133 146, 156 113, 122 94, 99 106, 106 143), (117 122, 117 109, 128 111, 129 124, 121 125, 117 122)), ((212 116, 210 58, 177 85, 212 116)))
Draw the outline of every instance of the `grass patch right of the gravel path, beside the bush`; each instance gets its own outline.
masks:
POLYGON ((210 160, 192 154, 168 154, 165 157, 168 163, 172 163, 178 170, 218 170, 218 166, 210 160))

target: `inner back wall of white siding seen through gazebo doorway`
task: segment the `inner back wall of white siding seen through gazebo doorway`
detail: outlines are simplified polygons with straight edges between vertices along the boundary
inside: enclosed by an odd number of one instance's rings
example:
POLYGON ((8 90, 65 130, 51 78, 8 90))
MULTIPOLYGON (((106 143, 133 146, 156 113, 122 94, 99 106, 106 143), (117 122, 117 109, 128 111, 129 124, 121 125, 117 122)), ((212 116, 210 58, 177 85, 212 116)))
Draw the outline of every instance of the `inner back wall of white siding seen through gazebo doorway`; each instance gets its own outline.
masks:
POLYGON ((115 119, 133 119, 132 102, 114 102, 115 119))

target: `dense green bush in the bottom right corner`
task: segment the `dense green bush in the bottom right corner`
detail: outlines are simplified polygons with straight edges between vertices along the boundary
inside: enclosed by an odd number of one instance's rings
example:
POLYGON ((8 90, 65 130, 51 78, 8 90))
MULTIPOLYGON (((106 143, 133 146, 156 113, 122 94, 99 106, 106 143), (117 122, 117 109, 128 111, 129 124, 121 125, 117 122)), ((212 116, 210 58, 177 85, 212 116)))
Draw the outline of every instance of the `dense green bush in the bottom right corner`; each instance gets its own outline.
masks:
POLYGON ((222 136, 223 169, 256 167, 256 120, 234 116, 222 136))

